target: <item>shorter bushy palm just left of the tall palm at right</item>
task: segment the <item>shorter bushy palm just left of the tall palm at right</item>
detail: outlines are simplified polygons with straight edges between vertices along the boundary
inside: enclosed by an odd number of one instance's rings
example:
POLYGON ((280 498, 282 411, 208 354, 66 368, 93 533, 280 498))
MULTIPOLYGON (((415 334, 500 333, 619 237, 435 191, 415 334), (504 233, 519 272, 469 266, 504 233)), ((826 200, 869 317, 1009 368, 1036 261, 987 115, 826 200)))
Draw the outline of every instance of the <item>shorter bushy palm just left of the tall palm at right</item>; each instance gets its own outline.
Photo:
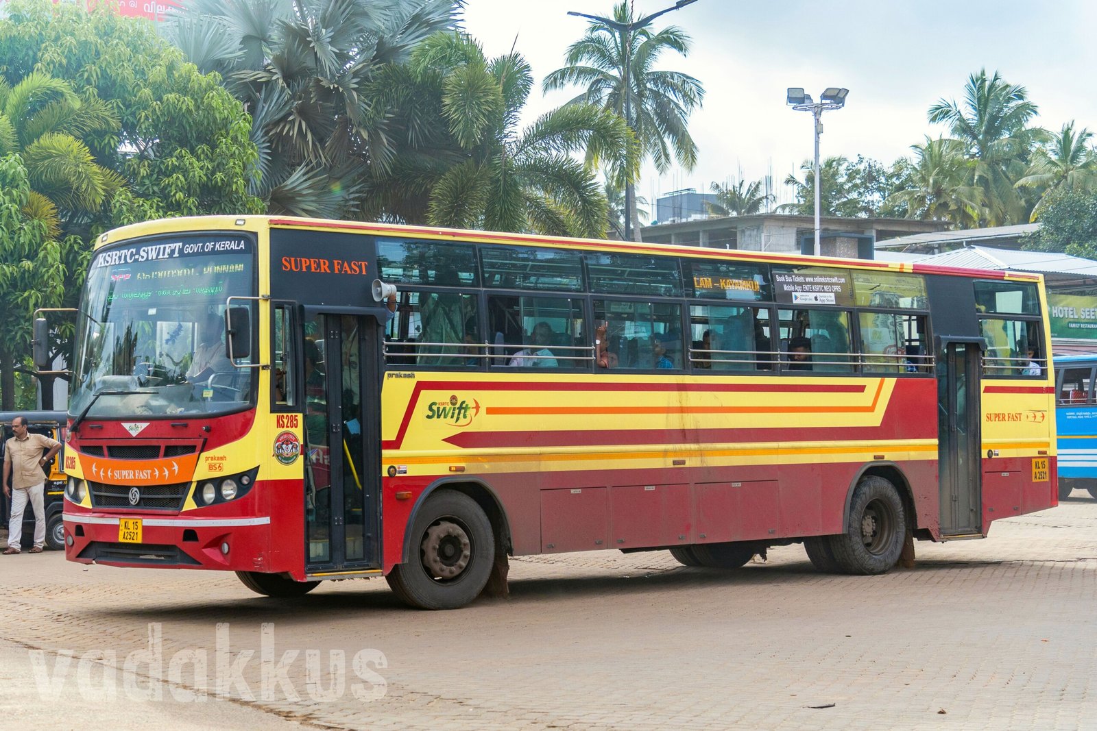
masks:
POLYGON ((980 219, 983 191, 970 183, 972 162, 963 144, 926 137, 913 145, 916 160, 907 170, 906 187, 887 196, 887 204, 904 205, 907 218, 952 221, 971 228, 980 219))

